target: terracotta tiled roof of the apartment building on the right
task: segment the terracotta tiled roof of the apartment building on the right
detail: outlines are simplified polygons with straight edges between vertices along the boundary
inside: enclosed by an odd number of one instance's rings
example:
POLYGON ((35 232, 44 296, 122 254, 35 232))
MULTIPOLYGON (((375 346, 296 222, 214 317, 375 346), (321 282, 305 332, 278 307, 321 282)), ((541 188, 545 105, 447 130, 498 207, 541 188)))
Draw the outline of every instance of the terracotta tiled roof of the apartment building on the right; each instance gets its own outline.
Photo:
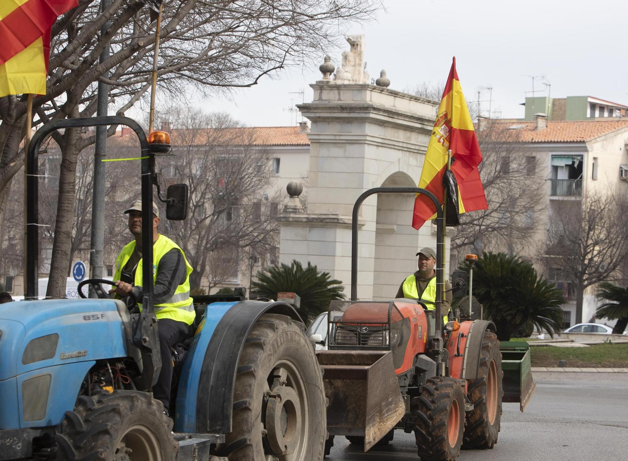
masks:
POLYGON ((528 143, 584 143, 613 131, 628 128, 628 119, 609 121, 556 121, 534 131, 534 122, 499 122, 504 128, 517 129, 521 141, 528 143))

